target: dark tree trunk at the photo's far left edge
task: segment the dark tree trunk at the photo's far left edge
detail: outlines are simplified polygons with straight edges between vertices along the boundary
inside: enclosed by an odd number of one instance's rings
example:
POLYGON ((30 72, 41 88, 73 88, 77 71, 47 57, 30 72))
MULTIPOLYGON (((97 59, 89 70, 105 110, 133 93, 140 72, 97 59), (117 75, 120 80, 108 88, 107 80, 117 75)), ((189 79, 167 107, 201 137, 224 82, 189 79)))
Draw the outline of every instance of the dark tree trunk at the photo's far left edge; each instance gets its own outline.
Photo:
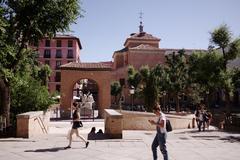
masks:
POLYGON ((3 108, 3 116, 6 117, 6 126, 10 126, 10 86, 0 79, 1 89, 1 106, 3 108))

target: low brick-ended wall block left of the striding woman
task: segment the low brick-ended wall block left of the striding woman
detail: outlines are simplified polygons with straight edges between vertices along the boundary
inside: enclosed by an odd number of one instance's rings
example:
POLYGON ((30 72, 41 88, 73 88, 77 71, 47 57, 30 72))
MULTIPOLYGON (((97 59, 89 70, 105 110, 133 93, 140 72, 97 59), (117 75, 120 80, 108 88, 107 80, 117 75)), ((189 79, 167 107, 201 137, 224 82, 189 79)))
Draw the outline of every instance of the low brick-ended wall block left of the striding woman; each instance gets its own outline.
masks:
POLYGON ((17 115, 17 137, 32 138, 48 133, 49 112, 26 112, 17 115))

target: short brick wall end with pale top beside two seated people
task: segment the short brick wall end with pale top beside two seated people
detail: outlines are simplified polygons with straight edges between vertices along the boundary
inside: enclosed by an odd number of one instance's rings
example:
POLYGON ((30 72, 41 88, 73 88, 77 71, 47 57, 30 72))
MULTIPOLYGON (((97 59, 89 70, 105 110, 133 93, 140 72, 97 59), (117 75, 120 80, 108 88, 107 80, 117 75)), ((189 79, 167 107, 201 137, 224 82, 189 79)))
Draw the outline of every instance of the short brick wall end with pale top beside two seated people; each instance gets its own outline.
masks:
POLYGON ((105 134, 108 138, 122 138, 123 115, 113 109, 105 109, 105 134))

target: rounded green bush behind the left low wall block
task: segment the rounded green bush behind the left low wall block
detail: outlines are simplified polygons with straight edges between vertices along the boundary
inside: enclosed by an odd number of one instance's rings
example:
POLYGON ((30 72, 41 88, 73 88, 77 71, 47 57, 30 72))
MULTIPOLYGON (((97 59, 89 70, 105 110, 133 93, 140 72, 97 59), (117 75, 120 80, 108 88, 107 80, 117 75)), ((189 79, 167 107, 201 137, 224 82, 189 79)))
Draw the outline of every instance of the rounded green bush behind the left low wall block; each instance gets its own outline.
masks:
POLYGON ((16 77, 11 85, 11 113, 13 115, 46 110, 53 103, 46 86, 30 76, 16 77))

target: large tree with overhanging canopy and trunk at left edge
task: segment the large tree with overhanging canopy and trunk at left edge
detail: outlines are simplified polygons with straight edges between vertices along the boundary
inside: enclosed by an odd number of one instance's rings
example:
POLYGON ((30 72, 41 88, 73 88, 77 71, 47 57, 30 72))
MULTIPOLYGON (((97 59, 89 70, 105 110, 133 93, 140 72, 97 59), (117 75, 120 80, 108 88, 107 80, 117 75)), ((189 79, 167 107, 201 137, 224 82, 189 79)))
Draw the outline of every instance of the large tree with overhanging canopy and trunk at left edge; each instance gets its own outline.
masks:
POLYGON ((0 59, 0 89, 3 114, 10 125, 10 84, 28 57, 28 44, 69 30, 80 15, 78 0, 3 0, 0 2, 0 29, 3 56, 0 59))

